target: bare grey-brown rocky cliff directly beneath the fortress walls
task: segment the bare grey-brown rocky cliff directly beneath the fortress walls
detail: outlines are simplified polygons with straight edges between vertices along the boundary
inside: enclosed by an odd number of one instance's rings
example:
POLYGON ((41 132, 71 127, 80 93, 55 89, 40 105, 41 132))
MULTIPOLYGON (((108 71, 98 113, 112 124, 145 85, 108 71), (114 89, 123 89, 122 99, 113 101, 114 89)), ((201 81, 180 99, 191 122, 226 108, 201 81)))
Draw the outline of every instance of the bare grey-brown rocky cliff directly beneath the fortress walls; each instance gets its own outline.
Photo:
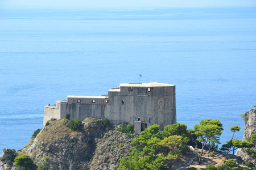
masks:
MULTIPOLYGON (((118 126, 93 118, 82 121, 76 131, 68 124, 67 119, 50 121, 18 154, 28 154, 36 165, 47 169, 117 169, 135 136, 127 137, 118 126)), ((11 168, 2 164, 1 169, 11 168)))

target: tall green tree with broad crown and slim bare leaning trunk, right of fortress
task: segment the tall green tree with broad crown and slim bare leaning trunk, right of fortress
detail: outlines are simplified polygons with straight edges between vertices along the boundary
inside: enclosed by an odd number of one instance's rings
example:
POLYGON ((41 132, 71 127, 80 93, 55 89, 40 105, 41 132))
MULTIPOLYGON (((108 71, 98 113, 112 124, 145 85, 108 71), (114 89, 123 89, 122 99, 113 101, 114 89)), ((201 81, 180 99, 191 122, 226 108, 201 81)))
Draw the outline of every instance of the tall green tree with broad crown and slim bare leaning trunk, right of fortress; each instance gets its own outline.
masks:
POLYGON ((220 120, 205 119, 200 121, 200 125, 196 124, 195 134, 198 136, 197 140, 203 142, 201 154, 199 156, 199 164, 201 156, 203 155, 204 148, 208 142, 210 145, 212 142, 219 143, 220 135, 222 134, 222 124, 220 120))

